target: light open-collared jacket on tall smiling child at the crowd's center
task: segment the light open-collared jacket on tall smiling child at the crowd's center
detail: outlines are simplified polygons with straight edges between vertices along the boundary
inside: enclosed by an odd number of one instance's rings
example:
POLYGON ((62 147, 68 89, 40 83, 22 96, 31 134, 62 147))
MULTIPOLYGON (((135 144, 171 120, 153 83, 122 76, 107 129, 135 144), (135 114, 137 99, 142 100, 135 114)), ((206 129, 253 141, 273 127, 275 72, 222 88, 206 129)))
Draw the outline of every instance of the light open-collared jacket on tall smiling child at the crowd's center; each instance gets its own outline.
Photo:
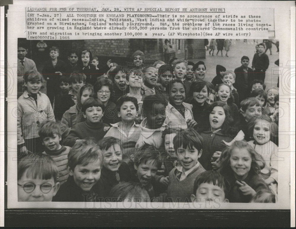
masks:
POLYGON ((168 105, 165 108, 165 123, 169 127, 178 127, 181 129, 187 129, 187 120, 194 119, 192 114, 192 105, 189 103, 182 103, 182 105, 185 107, 185 118, 183 117, 178 110, 173 107, 172 104, 168 103, 168 105))

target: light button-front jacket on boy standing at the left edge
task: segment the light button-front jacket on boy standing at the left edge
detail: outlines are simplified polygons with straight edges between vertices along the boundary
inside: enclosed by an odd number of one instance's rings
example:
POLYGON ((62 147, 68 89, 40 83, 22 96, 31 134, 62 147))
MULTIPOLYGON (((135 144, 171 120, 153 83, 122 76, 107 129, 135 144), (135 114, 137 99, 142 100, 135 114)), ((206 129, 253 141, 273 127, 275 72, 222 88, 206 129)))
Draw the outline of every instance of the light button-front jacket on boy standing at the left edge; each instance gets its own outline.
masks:
POLYGON ((49 98, 38 91, 35 101, 25 91, 17 99, 17 145, 25 143, 24 139, 38 138, 40 124, 45 120, 55 122, 49 98))

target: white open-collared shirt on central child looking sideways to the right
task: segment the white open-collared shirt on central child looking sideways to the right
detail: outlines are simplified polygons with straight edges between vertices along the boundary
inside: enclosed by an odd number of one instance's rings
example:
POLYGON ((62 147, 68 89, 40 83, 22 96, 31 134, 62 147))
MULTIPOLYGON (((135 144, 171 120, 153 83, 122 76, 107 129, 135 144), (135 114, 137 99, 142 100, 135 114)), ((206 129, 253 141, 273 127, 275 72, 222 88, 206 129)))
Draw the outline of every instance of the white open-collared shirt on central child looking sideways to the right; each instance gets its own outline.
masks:
POLYGON ((136 148, 141 148, 145 143, 153 145, 156 148, 163 147, 162 134, 167 124, 163 123, 163 125, 157 129, 148 129, 146 125, 147 118, 144 118, 144 120, 140 124, 141 134, 139 140, 136 143, 136 148))

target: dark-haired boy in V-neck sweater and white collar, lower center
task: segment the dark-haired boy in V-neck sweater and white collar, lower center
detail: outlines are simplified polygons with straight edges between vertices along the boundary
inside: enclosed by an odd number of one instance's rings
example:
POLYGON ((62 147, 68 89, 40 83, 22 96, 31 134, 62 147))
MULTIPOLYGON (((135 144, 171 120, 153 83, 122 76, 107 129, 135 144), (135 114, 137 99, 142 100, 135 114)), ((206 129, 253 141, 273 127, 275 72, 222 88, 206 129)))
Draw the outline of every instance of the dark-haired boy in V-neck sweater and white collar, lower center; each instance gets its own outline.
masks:
POLYGON ((194 180, 205 171, 198 158, 202 155, 202 137, 188 128, 174 138, 174 149, 181 166, 169 173, 168 200, 170 202, 191 202, 194 180))

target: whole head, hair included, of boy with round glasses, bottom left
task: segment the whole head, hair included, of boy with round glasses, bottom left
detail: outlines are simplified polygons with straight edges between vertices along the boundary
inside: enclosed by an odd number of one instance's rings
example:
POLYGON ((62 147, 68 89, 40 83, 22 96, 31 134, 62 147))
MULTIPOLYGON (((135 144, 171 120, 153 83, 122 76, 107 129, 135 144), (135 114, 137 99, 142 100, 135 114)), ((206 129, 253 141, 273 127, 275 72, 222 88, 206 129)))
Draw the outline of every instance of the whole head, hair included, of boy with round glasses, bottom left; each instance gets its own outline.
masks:
POLYGON ((57 194, 58 168, 48 155, 30 154, 17 163, 17 201, 52 201, 57 194))

